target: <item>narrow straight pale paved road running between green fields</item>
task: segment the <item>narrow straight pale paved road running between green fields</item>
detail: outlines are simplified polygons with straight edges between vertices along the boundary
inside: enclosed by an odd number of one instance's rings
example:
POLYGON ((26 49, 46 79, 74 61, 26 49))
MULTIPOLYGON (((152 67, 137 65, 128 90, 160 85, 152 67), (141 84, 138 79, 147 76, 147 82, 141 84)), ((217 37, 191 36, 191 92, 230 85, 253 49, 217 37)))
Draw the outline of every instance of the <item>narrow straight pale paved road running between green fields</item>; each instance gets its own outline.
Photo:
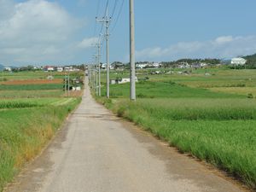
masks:
POLYGON ((7 192, 243 191, 97 104, 83 102, 7 192))

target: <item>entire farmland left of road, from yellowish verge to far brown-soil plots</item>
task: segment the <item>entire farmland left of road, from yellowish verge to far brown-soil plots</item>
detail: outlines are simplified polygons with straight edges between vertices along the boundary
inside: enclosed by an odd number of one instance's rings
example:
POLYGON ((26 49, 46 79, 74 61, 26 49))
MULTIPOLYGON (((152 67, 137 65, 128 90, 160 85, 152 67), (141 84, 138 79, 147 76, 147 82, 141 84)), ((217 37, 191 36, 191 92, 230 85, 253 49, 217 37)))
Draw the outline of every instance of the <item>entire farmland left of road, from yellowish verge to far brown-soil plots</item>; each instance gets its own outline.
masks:
MULTIPOLYGON (((0 191, 44 148, 81 101, 82 91, 65 94, 64 75, 4 73, 0 82, 0 191), (54 79, 47 79, 49 75, 54 79)), ((83 76, 71 73, 71 79, 83 76)))

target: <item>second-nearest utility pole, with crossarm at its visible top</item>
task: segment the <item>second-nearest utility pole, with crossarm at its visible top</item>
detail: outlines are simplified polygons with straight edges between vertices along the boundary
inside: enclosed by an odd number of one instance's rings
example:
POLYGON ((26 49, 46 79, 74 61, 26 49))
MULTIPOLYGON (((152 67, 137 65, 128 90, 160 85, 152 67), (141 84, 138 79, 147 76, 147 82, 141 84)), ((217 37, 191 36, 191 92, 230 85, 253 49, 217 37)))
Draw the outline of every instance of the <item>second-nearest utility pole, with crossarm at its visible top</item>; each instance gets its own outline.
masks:
POLYGON ((105 37, 106 37, 106 60, 107 60, 107 98, 109 98, 109 59, 108 59, 108 39, 109 39, 109 25, 110 25, 110 21, 111 21, 111 17, 108 16, 108 8, 106 11, 106 15, 101 19, 98 20, 96 17, 96 21, 97 22, 102 22, 105 23, 106 26, 106 33, 105 33, 105 37))

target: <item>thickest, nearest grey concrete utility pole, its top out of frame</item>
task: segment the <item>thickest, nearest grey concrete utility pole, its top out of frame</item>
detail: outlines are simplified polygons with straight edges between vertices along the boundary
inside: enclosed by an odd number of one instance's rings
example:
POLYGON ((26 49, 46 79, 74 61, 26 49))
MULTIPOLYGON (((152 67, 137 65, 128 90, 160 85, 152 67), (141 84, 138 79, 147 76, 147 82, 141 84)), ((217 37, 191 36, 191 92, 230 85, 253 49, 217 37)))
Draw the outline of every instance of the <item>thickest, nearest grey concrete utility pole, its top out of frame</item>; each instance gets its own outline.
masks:
POLYGON ((134 0, 130 0, 130 99, 136 101, 134 0))

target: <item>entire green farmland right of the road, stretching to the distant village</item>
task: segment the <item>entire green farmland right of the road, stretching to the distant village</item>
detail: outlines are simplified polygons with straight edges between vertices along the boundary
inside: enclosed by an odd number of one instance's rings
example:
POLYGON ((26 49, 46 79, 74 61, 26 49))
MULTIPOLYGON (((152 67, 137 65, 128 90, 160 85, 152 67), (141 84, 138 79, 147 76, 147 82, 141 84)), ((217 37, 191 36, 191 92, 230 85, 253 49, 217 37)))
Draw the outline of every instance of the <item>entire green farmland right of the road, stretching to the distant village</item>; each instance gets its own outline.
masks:
MULTIPOLYGON (((161 70, 173 72, 137 71, 141 80, 135 103, 128 99, 129 84, 111 84, 111 98, 105 99, 104 79, 103 97, 96 99, 182 153, 206 160, 256 189, 256 70, 161 70)), ((122 76, 129 77, 125 71, 111 73, 112 79, 122 76)))

